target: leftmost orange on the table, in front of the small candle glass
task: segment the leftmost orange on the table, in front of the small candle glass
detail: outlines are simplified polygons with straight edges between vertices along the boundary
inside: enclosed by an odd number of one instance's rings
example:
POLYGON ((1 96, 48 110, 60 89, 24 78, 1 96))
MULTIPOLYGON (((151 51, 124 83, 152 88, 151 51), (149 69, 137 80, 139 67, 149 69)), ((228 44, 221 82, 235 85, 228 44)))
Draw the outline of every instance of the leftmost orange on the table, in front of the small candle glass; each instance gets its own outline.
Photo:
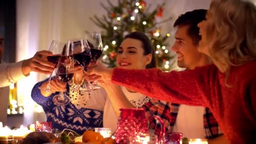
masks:
POLYGON ((101 136, 100 133, 96 133, 94 131, 85 131, 83 133, 83 142, 88 141, 101 141, 103 139, 103 136, 101 136))

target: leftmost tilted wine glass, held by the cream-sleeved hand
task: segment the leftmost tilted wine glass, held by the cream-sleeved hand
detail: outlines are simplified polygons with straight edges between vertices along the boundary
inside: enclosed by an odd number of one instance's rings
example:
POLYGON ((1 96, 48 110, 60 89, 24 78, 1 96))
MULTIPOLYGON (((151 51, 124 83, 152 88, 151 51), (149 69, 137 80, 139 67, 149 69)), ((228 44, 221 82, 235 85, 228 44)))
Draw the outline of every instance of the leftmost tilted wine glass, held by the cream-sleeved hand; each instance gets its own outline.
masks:
MULTIPOLYGON (((51 51, 53 53, 53 55, 47 56, 47 61, 55 64, 54 68, 56 68, 56 65, 58 64, 61 53, 63 53, 64 50, 65 50, 65 43, 59 42, 57 40, 53 40, 51 42, 51 45, 50 45, 48 51, 51 51)), ((51 91, 51 88, 50 88, 52 75, 53 75, 53 72, 51 72, 51 74, 50 74, 46 88, 39 87, 40 90, 46 91, 46 92, 53 92, 53 91, 51 91)))

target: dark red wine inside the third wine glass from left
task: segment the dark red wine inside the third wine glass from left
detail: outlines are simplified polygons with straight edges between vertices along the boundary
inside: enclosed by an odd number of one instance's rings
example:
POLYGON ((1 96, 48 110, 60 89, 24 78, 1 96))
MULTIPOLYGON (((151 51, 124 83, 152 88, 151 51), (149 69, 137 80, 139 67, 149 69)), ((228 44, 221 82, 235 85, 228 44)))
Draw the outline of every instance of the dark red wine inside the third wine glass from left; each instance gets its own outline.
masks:
MULTIPOLYGON (((83 53, 74 54, 73 57, 76 60, 76 63, 78 63, 85 70, 91 62, 91 55, 88 54, 88 52, 86 52, 86 51, 84 51, 83 53)), ((77 64, 75 64, 75 66, 76 65, 77 64)))

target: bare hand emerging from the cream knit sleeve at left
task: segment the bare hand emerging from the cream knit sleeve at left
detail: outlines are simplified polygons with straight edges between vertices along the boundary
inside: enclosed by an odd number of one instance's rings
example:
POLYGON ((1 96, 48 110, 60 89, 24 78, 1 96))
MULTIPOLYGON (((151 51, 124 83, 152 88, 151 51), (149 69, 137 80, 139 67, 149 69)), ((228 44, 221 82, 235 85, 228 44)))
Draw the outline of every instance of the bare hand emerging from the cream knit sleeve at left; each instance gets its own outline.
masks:
POLYGON ((24 60, 21 67, 23 74, 28 75, 31 71, 51 74, 55 67, 53 63, 47 61, 47 56, 51 55, 51 51, 38 51, 32 58, 24 60))

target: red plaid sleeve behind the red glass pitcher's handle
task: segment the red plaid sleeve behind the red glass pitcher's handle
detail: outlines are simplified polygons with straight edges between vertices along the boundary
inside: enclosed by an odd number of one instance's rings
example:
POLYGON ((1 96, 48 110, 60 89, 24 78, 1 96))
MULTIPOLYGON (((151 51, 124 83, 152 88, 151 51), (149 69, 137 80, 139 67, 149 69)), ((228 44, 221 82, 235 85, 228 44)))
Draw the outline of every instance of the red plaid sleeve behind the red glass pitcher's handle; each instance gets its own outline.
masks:
POLYGON ((158 120, 155 120, 152 116, 157 115, 163 120, 165 131, 170 132, 170 118, 171 118, 171 103, 167 101, 160 101, 157 99, 151 99, 149 102, 142 106, 145 109, 146 117, 149 120, 149 128, 155 129, 155 134, 160 135, 161 124, 158 120))

